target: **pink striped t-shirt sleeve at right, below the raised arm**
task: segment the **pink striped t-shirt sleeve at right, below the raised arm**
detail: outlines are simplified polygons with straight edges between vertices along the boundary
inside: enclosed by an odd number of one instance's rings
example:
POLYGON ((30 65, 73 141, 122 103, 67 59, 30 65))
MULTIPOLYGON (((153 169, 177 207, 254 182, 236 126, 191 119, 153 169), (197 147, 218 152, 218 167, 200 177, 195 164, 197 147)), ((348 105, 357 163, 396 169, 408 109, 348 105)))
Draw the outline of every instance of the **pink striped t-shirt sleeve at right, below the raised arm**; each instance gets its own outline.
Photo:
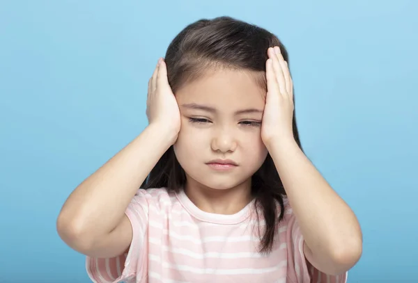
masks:
POLYGON ((348 273, 328 275, 309 264, 304 255, 304 238, 291 209, 286 218, 288 220, 288 275, 293 277, 293 283, 346 283, 348 273))

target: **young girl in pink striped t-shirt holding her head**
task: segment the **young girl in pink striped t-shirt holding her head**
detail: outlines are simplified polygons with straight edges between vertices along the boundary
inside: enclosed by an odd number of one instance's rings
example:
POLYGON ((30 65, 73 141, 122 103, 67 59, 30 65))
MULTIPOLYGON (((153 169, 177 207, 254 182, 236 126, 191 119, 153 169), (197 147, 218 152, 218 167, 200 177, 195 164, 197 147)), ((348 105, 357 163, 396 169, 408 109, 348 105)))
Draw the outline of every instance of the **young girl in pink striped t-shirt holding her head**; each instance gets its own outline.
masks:
POLYGON ((57 220, 93 282, 346 282, 359 223, 302 152, 272 33, 190 24, 155 68, 146 113, 57 220))

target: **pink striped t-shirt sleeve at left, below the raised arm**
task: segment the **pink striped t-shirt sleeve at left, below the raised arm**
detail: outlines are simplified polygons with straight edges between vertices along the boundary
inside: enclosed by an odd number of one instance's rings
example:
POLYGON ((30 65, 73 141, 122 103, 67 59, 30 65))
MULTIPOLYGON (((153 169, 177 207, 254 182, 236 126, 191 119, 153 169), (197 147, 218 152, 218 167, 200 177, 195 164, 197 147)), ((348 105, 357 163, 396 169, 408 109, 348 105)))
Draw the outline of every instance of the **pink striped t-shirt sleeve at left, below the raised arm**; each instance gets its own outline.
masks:
POLYGON ((147 272, 148 254, 148 194, 139 190, 132 198, 125 214, 132 225, 129 250, 118 257, 86 257, 88 277, 95 283, 140 282, 147 272))

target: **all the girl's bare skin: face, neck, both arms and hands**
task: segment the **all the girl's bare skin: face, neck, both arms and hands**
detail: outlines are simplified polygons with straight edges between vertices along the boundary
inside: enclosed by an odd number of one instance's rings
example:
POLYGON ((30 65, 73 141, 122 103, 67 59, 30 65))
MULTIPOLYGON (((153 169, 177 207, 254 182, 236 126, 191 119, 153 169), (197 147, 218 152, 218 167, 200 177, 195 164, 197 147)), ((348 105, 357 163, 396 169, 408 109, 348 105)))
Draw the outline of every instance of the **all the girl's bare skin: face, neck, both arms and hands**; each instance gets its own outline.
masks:
POLYGON ((148 83, 148 127, 68 197, 57 219, 63 241, 90 257, 125 252, 132 241, 125 210, 173 144, 187 172, 185 191, 192 202, 203 211, 224 214, 235 213, 249 202, 249 177, 270 152, 304 236, 307 261, 328 274, 354 266, 362 254, 357 218, 297 147, 291 124, 291 76, 278 47, 270 48, 268 56, 266 95, 249 73, 224 70, 222 76, 221 71, 208 73, 175 97, 164 60, 159 60, 148 83), (262 113, 235 114, 247 108, 262 113), (249 121, 261 121, 261 127, 249 126, 249 121), (206 163, 217 158, 233 159, 238 166, 215 172, 206 163))

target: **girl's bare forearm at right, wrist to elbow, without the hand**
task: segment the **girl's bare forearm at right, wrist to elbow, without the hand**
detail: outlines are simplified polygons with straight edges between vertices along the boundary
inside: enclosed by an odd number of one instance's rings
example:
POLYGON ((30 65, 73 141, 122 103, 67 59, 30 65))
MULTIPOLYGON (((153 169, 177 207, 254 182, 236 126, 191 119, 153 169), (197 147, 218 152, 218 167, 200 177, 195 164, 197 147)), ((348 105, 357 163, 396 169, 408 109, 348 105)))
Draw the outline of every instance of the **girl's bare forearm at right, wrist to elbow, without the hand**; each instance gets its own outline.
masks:
POLYGON ((327 273, 353 266, 362 235, 353 211, 294 140, 268 147, 307 245, 307 258, 327 273))

